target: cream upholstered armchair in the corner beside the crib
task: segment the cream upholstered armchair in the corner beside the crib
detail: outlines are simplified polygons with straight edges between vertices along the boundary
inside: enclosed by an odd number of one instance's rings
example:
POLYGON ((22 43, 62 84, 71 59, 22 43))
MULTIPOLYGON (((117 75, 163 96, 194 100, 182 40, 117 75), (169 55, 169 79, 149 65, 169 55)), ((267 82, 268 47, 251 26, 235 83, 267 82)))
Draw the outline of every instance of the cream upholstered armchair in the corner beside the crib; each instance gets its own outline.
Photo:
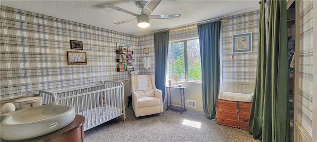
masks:
POLYGON ((136 117, 163 112, 162 91, 155 86, 155 76, 131 76, 132 107, 136 117))

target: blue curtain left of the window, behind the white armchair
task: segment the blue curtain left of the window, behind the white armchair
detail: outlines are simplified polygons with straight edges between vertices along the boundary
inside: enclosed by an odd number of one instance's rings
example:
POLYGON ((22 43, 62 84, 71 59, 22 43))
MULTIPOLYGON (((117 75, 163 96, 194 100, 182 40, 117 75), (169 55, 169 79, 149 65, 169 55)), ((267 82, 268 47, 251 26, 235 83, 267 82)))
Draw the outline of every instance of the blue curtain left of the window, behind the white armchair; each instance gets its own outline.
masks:
POLYGON ((165 98, 165 78, 168 55, 169 31, 154 34, 155 48, 155 85, 162 91, 163 100, 165 98))

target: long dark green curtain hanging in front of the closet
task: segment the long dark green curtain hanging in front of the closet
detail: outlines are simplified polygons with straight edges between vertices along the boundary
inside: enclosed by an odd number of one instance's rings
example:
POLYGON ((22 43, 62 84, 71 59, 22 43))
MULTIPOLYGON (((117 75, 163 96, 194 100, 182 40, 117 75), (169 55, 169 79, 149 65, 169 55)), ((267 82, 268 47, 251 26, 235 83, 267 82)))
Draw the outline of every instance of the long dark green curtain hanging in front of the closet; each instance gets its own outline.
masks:
MULTIPOLYGON (((262 5, 261 9, 263 8, 262 5)), ((262 11, 260 14, 264 16, 262 11)), ((258 57, 266 57, 266 59, 258 60, 263 63, 258 63, 260 67, 258 67, 257 75, 259 72, 263 72, 263 74, 257 76, 249 126, 250 134, 263 142, 289 142, 290 138, 286 26, 286 0, 269 1, 267 48, 265 49, 263 46, 264 52, 261 51, 263 49, 259 49, 263 54, 258 57), (259 128, 260 124, 262 128, 259 128)), ((265 31, 261 27, 259 36, 264 39, 259 38, 259 42, 265 42, 265 37, 262 37, 262 32, 265 33, 265 31)), ((261 44, 263 43, 259 43, 259 48, 262 48, 261 44)))

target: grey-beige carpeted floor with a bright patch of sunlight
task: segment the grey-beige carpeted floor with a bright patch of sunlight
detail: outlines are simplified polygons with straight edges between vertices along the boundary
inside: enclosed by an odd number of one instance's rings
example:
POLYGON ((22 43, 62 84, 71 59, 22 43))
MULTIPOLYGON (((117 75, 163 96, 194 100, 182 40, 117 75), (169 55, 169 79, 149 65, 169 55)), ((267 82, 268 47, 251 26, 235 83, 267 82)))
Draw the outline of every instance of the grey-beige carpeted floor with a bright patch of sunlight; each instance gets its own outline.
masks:
POLYGON ((167 110, 161 115, 135 117, 132 107, 128 107, 125 122, 122 117, 118 117, 87 130, 85 142, 259 141, 254 140, 248 131, 216 124, 215 121, 207 119, 199 110, 187 110, 183 114, 167 110), (200 128, 199 124, 201 124, 200 128))

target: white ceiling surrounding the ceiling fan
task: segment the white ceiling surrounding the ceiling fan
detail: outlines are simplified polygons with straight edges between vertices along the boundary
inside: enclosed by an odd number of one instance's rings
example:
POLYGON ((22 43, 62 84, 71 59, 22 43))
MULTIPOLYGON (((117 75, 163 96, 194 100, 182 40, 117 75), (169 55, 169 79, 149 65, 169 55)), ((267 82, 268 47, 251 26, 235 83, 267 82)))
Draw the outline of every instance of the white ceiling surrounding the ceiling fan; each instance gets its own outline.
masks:
MULTIPOLYGON (((150 0, 148 0, 150 1, 150 0)), ((80 22, 135 36, 181 27, 199 21, 257 10, 260 0, 162 0, 151 15, 181 14, 179 19, 150 19, 150 27, 142 29, 137 20, 113 23, 135 16, 105 8, 104 3, 140 14, 136 0, 1 0, 0 4, 60 19, 80 22)))

